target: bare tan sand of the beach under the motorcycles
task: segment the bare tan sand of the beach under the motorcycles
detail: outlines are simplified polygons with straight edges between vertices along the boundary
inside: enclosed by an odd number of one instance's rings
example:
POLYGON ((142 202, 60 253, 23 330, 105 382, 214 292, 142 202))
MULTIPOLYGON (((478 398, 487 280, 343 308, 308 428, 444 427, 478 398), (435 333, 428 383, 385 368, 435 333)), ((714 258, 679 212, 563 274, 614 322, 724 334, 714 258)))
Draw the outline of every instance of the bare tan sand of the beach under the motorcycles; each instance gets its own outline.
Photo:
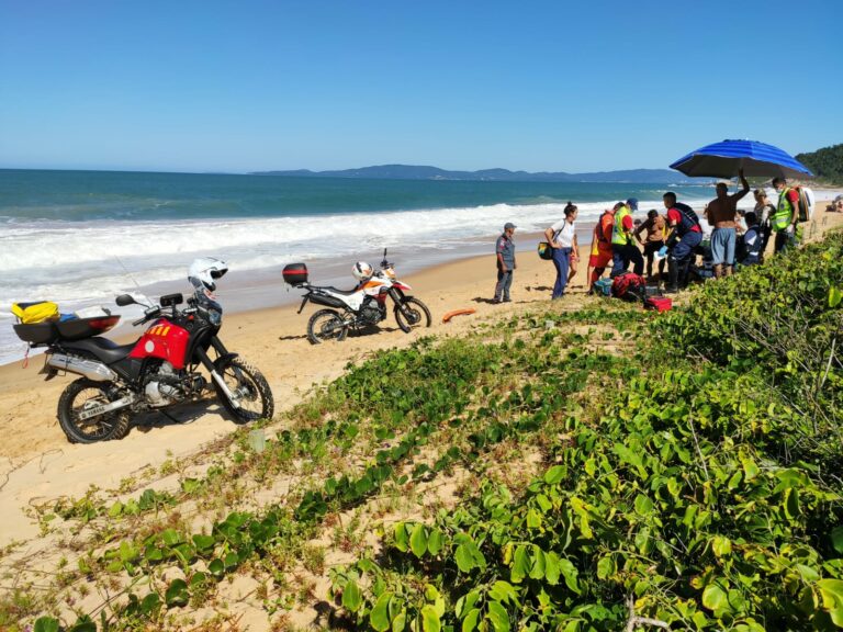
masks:
MULTIPOLYGON (((824 213, 825 203, 818 201, 813 227, 809 229, 814 238, 843 224, 843 215, 824 213)), ((555 275, 553 266, 536 256, 537 236, 517 237, 524 251, 518 255, 512 304, 494 305, 490 301, 495 263, 487 255, 439 264, 406 278, 414 294, 427 303, 434 315, 427 330, 405 335, 389 319, 376 334, 312 346, 305 327, 314 307, 296 314, 297 305, 290 305, 229 315, 222 337, 231 349, 260 368, 274 394, 276 410, 283 410, 310 390, 341 374, 349 362, 358 362, 379 349, 406 346, 427 335, 460 336, 488 319, 529 309, 531 304, 546 304, 555 275), (475 313, 442 323, 443 314, 461 308, 473 308, 475 313)), ((587 244, 582 248, 585 252, 587 244)), ((576 308, 584 302, 599 304, 602 298, 585 295, 584 283, 585 266, 581 263, 570 295, 559 303, 559 309, 576 308)), ((43 382, 41 366, 40 357, 34 357, 26 369, 20 362, 0 366, 0 429, 4 438, 0 444, 0 515, 4 517, 0 545, 37 535, 37 526, 25 515, 32 503, 78 496, 92 485, 114 488, 144 469, 191 455, 237 429, 220 414, 216 404, 210 403, 172 409, 170 413, 183 420, 180 424, 151 416, 121 441, 74 445, 58 427, 56 405, 61 391, 76 377, 43 382)))

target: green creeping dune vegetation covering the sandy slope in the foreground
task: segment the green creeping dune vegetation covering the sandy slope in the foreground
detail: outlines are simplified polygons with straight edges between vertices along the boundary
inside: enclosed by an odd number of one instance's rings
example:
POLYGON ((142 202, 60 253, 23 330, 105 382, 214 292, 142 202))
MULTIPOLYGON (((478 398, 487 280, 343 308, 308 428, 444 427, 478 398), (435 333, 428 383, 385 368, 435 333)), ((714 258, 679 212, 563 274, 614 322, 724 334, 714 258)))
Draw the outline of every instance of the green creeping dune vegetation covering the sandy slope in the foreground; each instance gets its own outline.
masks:
POLYGON ((379 352, 178 494, 55 505, 108 539, 0 622, 57 630, 56 595, 95 578, 120 590, 68 630, 179 629, 244 573, 272 618, 324 597, 306 571, 330 578, 331 628, 843 628, 841 258, 836 234, 670 314, 595 298, 379 352), (177 514, 279 478, 204 529, 177 514), (449 481, 450 504, 431 492, 449 481))

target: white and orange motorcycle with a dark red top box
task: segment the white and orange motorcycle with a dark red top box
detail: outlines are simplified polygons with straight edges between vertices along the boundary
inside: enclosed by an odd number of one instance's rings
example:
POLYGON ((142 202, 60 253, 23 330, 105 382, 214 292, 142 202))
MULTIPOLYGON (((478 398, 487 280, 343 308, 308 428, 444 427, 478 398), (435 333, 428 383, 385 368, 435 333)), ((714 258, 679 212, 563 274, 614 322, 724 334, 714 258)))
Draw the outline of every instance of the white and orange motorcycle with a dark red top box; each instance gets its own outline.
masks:
POLYGON ((331 286, 311 285, 307 281, 307 266, 291 263, 284 267, 284 281, 306 292, 299 307, 299 314, 311 302, 329 309, 319 309, 307 321, 307 339, 313 345, 324 340, 345 340, 348 331, 374 327, 387 316, 386 297, 391 297, 395 320, 405 334, 416 327, 430 327, 430 311, 422 301, 406 294, 409 285, 398 281, 395 268, 386 260, 383 251, 380 271, 366 262, 355 263, 352 274, 359 281, 353 290, 344 291, 331 286))

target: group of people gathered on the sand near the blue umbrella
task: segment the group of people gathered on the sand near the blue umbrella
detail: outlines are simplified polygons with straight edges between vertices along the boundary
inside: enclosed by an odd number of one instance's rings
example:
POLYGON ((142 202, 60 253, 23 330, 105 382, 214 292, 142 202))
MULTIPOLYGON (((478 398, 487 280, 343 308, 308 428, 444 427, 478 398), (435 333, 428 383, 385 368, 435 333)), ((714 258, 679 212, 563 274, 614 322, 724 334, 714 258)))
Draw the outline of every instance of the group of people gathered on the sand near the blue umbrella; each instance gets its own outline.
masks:
MULTIPOLYGON (((712 228, 710 257, 715 278, 732 274, 735 263, 752 266, 762 262, 773 233, 775 252, 787 249, 797 240, 799 194, 796 189, 788 187, 784 178, 775 178, 773 187, 778 193, 777 205, 771 204, 763 189, 757 189, 754 192, 755 207, 744 214, 738 210, 738 202, 750 192, 750 185, 743 171, 740 171, 739 179, 741 189, 732 194, 726 182, 718 183, 717 196, 706 205, 704 212, 712 228), (740 224, 740 216, 746 225, 745 230, 740 224), (740 257, 739 232, 743 233, 740 257)), ((697 213, 687 204, 678 202, 676 193, 667 191, 663 195, 663 203, 666 210, 664 215, 653 208, 643 222, 633 219, 638 211, 638 200, 634 198, 618 202, 612 208, 603 212, 592 232, 587 273, 589 292, 609 267, 610 276, 614 278, 627 272, 630 266, 636 274, 643 275, 647 264, 647 274, 653 278, 656 260, 659 279, 664 275, 665 262, 667 266, 666 293, 675 293, 687 284, 690 266, 700 251, 704 229, 697 213), (643 247, 643 252, 640 247, 643 247)), ((569 202, 564 217, 544 230, 557 270, 551 294, 553 300, 564 296, 565 289, 577 271, 580 246, 576 239, 576 205, 569 202)), ((507 223, 496 241, 497 284, 494 303, 510 301, 509 291, 516 267, 515 229, 514 224, 507 223)))

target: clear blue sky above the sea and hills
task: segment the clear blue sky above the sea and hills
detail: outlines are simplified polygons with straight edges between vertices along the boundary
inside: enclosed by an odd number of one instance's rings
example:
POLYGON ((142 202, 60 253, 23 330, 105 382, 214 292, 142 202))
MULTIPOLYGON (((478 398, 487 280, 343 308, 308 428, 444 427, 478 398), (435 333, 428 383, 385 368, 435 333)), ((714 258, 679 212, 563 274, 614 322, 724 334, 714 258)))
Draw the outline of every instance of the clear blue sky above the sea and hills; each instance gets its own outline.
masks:
POLYGON ((843 142, 843 1, 0 0, 0 168, 666 167, 843 142))

